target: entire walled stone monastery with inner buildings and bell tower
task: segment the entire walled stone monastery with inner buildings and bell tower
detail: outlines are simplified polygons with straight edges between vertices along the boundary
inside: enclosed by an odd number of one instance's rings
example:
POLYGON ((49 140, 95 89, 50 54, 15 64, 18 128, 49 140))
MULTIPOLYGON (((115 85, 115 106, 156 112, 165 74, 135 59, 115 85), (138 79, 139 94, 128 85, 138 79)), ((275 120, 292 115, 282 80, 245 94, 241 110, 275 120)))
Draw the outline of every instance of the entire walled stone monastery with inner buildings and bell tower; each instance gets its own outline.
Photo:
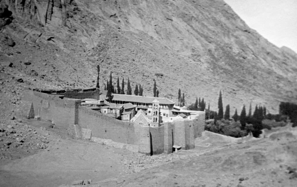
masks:
POLYGON ((97 88, 29 90, 23 115, 48 120, 75 138, 110 140, 146 155, 194 148, 204 131, 204 111, 146 96, 113 94, 108 103, 103 95, 97 88))

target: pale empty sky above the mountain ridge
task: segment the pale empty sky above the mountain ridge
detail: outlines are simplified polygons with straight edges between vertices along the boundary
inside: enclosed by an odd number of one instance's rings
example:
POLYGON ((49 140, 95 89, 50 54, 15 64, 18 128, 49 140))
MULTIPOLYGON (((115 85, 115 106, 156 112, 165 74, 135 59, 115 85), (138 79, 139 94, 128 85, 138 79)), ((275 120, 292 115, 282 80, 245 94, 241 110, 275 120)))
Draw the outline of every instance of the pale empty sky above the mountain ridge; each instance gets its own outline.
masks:
POLYGON ((250 28, 297 53, 297 0, 224 0, 250 28))

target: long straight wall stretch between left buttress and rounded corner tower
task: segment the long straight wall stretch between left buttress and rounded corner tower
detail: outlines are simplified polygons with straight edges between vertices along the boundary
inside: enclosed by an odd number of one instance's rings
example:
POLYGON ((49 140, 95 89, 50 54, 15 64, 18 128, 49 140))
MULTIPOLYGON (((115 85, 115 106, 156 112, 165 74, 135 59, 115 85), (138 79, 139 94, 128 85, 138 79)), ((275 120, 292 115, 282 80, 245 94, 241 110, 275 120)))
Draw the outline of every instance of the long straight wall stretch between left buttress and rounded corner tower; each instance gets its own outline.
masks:
POLYGON ((134 125, 120 121, 97 111, 78 106, 78 124, 92 130, 92 136, 115 142, 135 144, 134 125))

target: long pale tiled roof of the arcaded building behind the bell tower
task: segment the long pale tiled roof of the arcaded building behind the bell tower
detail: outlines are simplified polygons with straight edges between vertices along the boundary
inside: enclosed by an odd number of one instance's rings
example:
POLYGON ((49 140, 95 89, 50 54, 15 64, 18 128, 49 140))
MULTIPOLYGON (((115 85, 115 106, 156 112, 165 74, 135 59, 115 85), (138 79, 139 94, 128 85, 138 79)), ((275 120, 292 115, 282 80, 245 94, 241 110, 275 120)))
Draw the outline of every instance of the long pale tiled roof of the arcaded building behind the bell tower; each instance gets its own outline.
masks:
POLYGON ((136 102, 136 103, 153 103, 153 100, 157 99, 160 104, 174 104, 173 101, 167 98, 155 98, 155 97, 146 97, 138 95, 124 95, 124 94, 113 94, 113 100, 118 101, 127 101, 127 102, 136 102))

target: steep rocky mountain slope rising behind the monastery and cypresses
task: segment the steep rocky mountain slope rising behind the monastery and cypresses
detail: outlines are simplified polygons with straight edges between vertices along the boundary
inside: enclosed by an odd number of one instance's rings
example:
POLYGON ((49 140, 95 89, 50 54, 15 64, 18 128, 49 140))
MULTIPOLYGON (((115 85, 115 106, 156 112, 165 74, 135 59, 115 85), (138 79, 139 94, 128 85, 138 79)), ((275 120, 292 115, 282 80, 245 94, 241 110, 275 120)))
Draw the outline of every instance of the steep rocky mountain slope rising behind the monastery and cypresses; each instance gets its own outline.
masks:
POLYGON ((112 71, 152 95, 155 79, 160 96, 177 101, 181 88, 187 104, 204 97, 214 110, 220 89, 231 112, 252 102, 274 113, 280 101, 297 101, 296 54, 221 0, 0 4, 0 68, 23 87, 93 86, 99 64, 101 87, 112 71))

